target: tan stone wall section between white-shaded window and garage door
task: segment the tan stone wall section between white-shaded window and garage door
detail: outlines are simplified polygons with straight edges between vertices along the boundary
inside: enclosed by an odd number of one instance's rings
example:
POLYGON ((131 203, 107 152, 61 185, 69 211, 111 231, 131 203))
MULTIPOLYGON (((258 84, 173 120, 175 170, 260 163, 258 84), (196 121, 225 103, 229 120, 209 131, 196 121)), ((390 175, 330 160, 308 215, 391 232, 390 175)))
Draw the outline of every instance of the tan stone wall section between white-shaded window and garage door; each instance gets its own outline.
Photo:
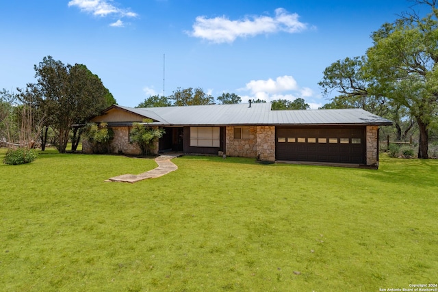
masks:
MULTIPOLYGON (((234 139, 234 128, 226 128, 226 154, 233 157, 253 157, 275 161, 275 127, 249 127, 249 139, 234 139)), ((238 127, 242 128, 242 127, 238 127)))

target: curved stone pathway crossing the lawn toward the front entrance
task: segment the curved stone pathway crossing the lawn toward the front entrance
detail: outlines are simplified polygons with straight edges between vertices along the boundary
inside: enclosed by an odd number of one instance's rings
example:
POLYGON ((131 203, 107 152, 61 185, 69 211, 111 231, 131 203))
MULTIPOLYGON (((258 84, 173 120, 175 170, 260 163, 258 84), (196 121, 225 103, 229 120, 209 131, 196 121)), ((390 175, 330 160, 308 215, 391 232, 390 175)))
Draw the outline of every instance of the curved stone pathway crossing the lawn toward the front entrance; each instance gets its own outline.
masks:
POLYGON ((146 178, 157 178, 159 176, 164 176, 164 174, 168 174, 169 172, 173 172, 178 169, 178 166, 175 165, 170 159, 179 157, 181 154, 167 154, 160 155, 155 158, 155 162, 158 164, 157 168, 153 170, 149 170, 149 172, 143 172, 142 174, 123 174, 120 176, 114 176, 109 178, 107 181, 116 181, 121 183, 136 183, 138 181, 142 181, 146 178))

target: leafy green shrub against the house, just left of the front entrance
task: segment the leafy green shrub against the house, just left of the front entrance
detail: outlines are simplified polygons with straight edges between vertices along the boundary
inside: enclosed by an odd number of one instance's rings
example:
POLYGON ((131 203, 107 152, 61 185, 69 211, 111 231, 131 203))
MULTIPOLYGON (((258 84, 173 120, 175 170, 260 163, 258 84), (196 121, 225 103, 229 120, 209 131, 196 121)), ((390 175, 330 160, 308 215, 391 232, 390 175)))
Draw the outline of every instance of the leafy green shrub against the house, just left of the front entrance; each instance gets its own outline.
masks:
POLYGON ((152 120, 144 120, 143 123, 134 122, 131 129, 131 143, 137 144, 142 155, 149 155, 155 142, 164 135, 164 129, 151 127, 152 120))

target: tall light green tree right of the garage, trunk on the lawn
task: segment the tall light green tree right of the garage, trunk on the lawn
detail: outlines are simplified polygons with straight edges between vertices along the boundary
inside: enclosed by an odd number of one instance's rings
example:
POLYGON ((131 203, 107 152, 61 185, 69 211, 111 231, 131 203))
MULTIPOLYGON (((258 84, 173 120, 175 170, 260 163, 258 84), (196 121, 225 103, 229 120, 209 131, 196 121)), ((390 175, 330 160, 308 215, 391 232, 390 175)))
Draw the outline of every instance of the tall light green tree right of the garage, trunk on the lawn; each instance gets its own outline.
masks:
POLYGON ((374 91, 409 109, 420 131, 418 157, 426 159, 438 101, 438 10, 435 1, 419 3, 428 3, 433 12, 385 23, 372 34, 366 69, 375 78, 374 91))

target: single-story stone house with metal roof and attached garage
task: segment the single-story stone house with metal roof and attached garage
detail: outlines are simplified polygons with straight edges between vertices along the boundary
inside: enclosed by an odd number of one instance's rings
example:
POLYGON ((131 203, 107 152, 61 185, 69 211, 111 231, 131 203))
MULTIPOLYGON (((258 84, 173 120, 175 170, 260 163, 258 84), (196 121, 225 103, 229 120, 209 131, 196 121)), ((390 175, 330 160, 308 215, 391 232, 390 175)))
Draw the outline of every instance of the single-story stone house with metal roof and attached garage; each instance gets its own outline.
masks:
MULTIPOLYGON (((112 105, 91 122, 114 130, 114 153, 140 154, 133 122, 151 119, 166 133, 156 152, 253 157, 378 168, 378 129, 392 124, 363 109, 271 110, 270 103, 133 108, 112 105), (342 164, 344 163, 344 164, 342 164)), ((90 146, 83 142, 83 151, 90 146)))

